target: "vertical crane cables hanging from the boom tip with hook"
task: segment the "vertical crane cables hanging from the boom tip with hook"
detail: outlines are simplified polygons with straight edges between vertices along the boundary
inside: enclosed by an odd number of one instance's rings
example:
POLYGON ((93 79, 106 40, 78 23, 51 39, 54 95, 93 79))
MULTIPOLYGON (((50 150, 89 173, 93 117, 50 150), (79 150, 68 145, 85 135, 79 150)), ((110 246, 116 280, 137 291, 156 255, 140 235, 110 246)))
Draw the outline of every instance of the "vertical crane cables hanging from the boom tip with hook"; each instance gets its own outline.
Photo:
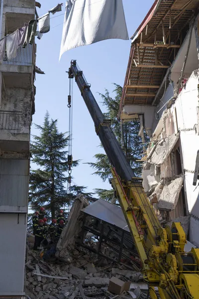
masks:
POLYGON ((71 173, 72 173, 72 146, 73 146, 73 79, 69 79, 69 95, 68 95, 68 108, 69 108, 69 143, 68 143, 68 184, 67 194, 68 197, 68 212, 71 209, 71 173))

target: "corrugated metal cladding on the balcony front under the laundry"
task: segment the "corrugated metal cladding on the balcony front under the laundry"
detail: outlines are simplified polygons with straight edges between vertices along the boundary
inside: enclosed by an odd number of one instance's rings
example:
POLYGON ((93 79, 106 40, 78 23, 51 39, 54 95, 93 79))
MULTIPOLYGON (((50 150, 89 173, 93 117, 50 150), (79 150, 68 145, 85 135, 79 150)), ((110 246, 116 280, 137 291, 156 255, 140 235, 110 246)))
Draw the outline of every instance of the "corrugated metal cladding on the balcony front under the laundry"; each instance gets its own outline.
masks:
POLYGON ((6 58, 4 58, 2 64, 31 66, 32 65, 32 45, 27 44, 25 48, 23 48, 22 46, 19 47, 17 49, 16 57, 11 60, 7 60, 6 58))

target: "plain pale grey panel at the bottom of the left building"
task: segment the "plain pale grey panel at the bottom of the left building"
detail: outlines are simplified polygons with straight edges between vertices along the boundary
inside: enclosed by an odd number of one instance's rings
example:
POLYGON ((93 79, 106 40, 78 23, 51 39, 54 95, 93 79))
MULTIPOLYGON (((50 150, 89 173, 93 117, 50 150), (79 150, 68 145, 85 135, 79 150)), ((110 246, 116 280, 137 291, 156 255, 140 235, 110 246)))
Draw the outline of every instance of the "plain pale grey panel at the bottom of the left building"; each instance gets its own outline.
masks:
POLYGON ((22 296, 27 216, 0 214, 0 227, 0 296, 22 296))

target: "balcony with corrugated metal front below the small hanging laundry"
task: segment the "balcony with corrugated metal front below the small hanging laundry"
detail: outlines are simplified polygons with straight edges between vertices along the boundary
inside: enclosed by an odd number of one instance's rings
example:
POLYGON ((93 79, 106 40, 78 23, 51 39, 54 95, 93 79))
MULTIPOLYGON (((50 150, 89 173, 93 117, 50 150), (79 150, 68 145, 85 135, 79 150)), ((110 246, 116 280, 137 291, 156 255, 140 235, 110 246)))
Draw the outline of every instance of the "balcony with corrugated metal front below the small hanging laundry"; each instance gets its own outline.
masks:
POLYGON ((17 55, 7 60, 6 52, 0 64, 0 71, 4 79, 5 87, 29 89, 32 85, 33 72, 33 47, 27 44, 26 48, 19 47, 17 55))

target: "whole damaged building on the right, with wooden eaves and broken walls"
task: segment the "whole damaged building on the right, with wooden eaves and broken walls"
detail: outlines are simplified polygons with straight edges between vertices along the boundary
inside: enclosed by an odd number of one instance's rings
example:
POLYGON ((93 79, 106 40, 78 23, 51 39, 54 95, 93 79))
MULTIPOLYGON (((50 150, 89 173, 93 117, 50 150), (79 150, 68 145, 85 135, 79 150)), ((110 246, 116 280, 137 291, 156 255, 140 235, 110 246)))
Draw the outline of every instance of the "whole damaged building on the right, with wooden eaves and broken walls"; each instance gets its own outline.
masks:
POLYGON ((199 1, 156 0, 131 37, 118 118, 137 119, 143 187, 199 246, 199 1), (144 133, 150 137, 146 143, 144 133))

